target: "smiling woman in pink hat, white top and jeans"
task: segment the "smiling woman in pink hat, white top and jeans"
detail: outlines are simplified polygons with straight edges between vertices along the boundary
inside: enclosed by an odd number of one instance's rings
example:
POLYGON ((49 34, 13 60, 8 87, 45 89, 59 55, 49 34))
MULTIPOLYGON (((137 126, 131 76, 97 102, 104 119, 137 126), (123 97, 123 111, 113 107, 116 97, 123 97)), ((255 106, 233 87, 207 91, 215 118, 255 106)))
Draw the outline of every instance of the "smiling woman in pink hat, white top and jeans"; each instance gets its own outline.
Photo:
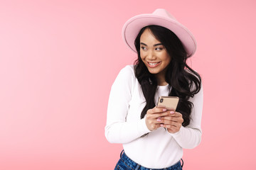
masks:
POLYGON ((138 59, 110 92, 105 136, 124 147, 115 169, 182 169, 183 148, 201 142, 201 77, 186 64, 196 40, 164 9, 130 18, 122 35, 138 59), (159 96, 178 96, 176 111, 156 108, 159 96))

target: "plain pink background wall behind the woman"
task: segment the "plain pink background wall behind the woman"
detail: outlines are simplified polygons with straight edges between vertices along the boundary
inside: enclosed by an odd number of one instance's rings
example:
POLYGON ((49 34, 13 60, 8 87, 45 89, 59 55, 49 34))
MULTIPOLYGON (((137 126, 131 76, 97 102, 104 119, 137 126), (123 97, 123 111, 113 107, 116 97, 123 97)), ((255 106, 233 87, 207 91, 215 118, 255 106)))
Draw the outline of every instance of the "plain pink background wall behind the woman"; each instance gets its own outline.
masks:
POLYGON ((110 87, 127 19, 166 8, 196 37, 203 139, 184 169, 256 169, 256 1, 0 1, 0 169, 114 169, 110 87))

